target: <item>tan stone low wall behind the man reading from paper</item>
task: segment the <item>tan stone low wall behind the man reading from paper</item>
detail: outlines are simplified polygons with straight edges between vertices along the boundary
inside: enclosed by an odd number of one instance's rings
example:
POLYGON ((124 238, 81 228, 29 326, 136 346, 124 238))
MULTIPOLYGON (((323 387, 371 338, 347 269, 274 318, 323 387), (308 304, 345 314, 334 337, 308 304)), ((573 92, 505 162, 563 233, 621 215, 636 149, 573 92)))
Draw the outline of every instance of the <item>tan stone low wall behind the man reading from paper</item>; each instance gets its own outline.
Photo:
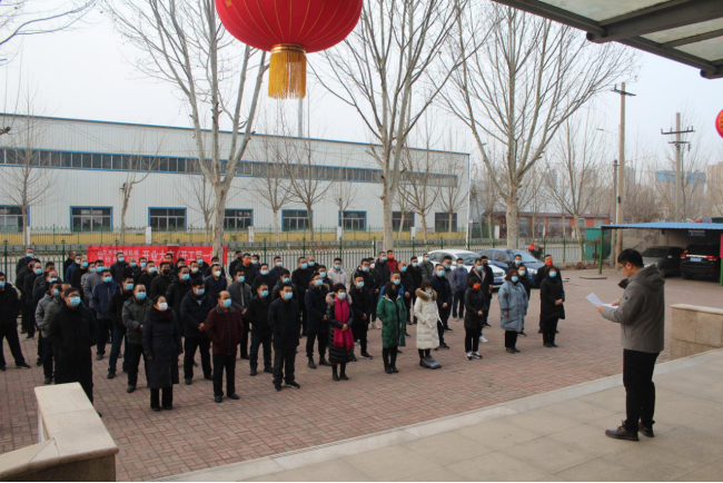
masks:
POLYGON ((723 347, 723 309, 672 305, 671 359, 723 347))

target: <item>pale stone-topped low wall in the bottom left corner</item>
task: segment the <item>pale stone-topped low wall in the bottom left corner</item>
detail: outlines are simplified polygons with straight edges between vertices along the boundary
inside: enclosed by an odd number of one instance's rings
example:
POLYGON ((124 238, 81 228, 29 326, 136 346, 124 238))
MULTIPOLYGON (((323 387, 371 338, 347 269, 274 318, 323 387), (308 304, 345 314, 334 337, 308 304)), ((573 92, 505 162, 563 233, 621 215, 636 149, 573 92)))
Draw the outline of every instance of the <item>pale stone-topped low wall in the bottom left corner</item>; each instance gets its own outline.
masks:
POLYGON ((80 384, 36 387, 39 443, 0 455, 0 481, 116 481, 118 446, 80 384))

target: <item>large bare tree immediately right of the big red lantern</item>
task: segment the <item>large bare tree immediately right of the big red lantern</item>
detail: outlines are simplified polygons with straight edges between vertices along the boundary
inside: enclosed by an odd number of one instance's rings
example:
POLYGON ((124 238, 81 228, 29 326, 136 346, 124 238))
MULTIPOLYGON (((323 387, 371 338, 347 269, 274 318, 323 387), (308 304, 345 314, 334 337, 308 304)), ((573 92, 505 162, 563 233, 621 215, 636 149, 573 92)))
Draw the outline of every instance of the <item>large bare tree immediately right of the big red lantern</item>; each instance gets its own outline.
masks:
POLYGON ((459 66, 447 42, 466 3, 365 1, 354 32, 323 52, 327 65, 315 72, 329 92, 356 109, 379 145, 370 154, 382 169, 386 248, 394 245, 392 216, 407 137, 459 66))

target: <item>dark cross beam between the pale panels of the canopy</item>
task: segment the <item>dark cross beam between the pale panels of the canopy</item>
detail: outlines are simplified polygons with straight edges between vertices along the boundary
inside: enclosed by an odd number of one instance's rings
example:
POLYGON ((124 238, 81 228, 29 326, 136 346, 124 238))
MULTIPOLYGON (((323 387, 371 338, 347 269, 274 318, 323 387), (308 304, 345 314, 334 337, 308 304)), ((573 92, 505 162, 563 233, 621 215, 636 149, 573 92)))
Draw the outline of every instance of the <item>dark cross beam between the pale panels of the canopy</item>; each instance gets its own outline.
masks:
POLYGON ((723 18, 723 1, 721 0, 665 2, 625 16, 625 18, 601 22, 605 33, 590 32, 587 40, 612 42, 720 18, 723 18))

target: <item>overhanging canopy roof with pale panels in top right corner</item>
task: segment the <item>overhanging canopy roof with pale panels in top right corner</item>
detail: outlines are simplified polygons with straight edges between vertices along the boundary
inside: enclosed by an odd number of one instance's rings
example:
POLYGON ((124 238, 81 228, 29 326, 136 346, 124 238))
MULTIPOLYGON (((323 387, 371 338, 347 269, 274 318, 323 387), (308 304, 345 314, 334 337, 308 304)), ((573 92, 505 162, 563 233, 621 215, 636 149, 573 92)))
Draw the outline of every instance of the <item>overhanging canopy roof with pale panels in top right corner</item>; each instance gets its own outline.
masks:
POLYGON ((723 78, 723 0, 494 0, 723 78))

